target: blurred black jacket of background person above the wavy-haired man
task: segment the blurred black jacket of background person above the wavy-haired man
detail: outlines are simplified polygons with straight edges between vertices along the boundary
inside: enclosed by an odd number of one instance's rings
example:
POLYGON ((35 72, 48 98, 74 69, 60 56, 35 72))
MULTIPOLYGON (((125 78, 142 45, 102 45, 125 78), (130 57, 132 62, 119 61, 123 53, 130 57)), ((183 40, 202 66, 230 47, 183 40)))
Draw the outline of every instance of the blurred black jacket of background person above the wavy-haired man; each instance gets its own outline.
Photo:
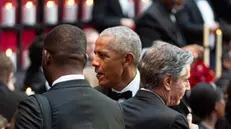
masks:
POLYGON ((142 47, 150 47, 154 40, 163 40, 179 47, 186 45, 178 25, 172 22, 170 12, 159 0, 153 0, 151 7, 136 19, 136 31, 142 47))

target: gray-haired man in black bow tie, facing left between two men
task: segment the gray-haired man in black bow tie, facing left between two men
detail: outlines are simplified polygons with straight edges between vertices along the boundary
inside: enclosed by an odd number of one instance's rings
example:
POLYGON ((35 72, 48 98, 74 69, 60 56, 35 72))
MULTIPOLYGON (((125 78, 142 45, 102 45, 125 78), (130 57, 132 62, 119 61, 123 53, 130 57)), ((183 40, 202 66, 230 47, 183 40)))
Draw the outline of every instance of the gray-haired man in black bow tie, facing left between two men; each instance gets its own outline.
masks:
POLYGON ((139 36, 128 27, 100 33, 92 61, 100 85, 96 89, 119 102, 133 97, 140 85, 137 66, 141 49, 139 36))

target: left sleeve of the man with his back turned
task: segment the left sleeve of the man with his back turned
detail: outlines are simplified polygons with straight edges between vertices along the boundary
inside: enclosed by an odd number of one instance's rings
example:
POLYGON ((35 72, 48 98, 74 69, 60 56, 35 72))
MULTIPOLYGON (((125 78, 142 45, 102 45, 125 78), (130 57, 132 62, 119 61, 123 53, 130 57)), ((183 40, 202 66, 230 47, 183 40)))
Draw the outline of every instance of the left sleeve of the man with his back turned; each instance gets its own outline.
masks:
POLYGON ((19 104, 15 129, 42 129, 42 115, 37 100, 29 96, 19 104))

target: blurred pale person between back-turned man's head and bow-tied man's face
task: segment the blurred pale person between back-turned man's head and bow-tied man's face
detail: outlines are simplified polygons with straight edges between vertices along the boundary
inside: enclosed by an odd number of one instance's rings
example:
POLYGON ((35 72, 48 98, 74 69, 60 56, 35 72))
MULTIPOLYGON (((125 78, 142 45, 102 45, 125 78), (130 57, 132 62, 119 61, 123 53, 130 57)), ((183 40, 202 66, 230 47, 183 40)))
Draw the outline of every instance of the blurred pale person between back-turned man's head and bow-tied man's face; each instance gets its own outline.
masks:
POLYGON ((92 66, 92 60, 94 59, 95 53, 95 42, 99 37, 99 33, 92 28, 87 28, 83 30, 87 38, 87 55, 88 61, 87 65, 83 69, 83 75, 88 80, 92 87, 98 86, 98 80, 96 78, 95 69, 92 66))

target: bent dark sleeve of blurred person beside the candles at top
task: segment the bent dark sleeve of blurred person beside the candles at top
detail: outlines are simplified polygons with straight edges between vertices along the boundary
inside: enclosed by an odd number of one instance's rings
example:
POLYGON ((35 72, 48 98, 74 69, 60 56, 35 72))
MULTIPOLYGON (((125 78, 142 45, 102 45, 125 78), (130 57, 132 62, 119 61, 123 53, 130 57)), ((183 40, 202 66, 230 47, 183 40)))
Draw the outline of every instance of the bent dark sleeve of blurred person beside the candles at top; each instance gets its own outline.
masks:
MULTIPOLYGON (((109 3, 107 0, 95 0, 93 7, 93 21, 96 26, 118 26, 120 25, 121 17, 108 16, 107 6, 109 3)), ((113 5, 112 5, 113 6, 113 5)))

